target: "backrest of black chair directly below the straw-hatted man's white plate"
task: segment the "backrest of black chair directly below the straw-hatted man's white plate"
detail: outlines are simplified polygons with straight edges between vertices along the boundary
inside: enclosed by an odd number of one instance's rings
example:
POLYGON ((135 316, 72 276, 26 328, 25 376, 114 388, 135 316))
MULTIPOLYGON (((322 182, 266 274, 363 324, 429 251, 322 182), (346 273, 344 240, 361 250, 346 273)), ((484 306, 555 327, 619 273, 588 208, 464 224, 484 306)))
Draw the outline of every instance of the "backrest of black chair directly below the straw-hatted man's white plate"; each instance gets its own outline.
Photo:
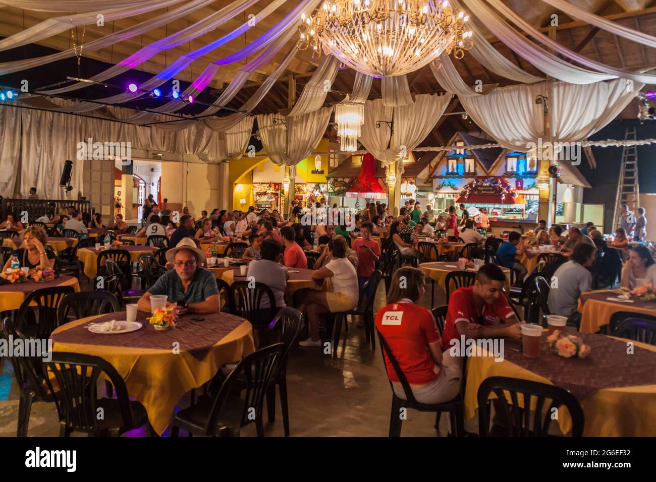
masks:
MULTIPOLYGON (((121 414, 121 427, 134 427, 130 399, 125 381, 114 367, 104 359, 83 353, 55 351, 51 361, 43 362, 44 369, 54 374, 57 382, 55 405, 59 423, 68 430, 98 433, 96 384, 105 374, 116 392, 116 401, 121 414)), ((46 378, 52 392, 52 384, 46 378)))

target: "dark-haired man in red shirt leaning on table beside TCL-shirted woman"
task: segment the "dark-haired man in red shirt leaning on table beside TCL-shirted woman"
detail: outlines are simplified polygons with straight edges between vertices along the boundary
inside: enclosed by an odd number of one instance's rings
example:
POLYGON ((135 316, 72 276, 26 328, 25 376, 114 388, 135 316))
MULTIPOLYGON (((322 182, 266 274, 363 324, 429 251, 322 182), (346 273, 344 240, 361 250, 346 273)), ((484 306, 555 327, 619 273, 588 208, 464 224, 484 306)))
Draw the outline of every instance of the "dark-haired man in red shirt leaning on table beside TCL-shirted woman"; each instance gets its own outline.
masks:
POLYGON ((499 266, 485 264, 474 285, 461 288, 449 297, 449 311, 442 333, 442 350, 451 348, 451 340, 465 338, 520 338, 520 320, 501 293, 506 275, 499 266), (504 323, 495 325, 496 318, 504 323))

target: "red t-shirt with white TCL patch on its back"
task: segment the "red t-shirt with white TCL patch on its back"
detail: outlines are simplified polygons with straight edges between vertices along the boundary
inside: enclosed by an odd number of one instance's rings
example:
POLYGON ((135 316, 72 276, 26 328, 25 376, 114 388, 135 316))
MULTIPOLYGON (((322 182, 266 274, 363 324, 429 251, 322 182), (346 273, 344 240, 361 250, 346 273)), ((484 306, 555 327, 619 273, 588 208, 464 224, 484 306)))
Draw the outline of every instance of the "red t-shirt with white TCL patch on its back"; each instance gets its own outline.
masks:
MULTIPOLYGON (((437 378, 440 367, 435 364, 426 346, 440 341, 433 313, 409 302, 392 303, 378 311, 376 327, 409 383, 426 384, 437 378)), ((390 380, 398 382, 399 378, 387 355, 385 365, 390 380)))

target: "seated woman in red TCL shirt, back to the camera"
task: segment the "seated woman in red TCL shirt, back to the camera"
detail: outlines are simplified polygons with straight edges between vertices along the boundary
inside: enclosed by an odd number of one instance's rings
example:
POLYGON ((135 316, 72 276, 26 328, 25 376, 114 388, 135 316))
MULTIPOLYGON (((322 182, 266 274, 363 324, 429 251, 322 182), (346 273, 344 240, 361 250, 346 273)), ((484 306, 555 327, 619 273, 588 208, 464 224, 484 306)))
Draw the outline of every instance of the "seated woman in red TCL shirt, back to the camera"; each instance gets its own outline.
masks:
MULTIPOLYGON (((376 327, 407 378, 415 399, 419 403, 444 403, 460 392, 462 365, 448 351, 442 352, 433 313, 417 304, 425 291, 423 271, 396 270, 387 296, 388 305, 379 310, 376 327)), ((387 355, 385 365, 394 393, 405 400, 405 392, 387 355)))

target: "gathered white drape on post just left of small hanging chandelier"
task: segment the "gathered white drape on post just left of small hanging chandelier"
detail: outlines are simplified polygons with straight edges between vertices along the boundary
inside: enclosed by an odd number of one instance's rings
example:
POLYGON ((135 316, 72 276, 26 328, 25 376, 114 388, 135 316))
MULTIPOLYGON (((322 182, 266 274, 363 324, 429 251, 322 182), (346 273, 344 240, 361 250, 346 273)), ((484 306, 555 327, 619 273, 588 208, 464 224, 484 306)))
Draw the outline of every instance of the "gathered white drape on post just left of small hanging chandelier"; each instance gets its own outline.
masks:
POLYGON ((286 119, 279 114, 257 115, 266 155, 274 164, 296 166, 318 146, 332 112, 332 107, 325 107, 286 119))

